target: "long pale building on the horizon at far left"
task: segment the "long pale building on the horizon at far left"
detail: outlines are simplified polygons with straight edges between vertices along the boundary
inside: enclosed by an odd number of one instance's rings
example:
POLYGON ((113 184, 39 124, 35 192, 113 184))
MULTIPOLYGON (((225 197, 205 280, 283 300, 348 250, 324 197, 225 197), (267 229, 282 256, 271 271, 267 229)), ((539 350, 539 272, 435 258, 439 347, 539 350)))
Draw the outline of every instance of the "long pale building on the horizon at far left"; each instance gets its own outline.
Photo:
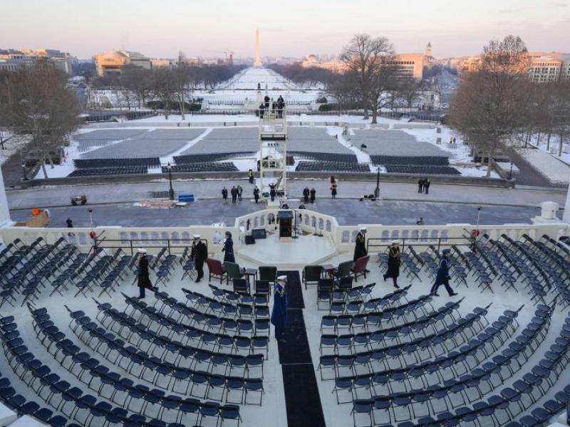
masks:
POLYGON ((33 65, 39 59, 50 61, 68 74, 73 73, 73 67, 78 63, 75 56, 56 49, 0 49, 0 70, 16 71, 33 65))

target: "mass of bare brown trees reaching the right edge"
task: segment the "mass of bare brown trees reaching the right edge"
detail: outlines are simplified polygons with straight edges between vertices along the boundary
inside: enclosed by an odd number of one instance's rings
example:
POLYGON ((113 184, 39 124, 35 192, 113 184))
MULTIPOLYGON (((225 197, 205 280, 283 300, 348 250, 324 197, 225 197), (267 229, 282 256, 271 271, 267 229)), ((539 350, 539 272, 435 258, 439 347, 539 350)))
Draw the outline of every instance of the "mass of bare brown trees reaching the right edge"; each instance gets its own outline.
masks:
MULTIPOLYGON (((490 162, 503 149, 527 147, 534 138, 570 133, 570 81, 536 83, 529 78, 527 46, 518 36, 484 46, 476 70, 463 73, 450 102, 450 125, 490 162)), ((490 168, 487 167, 487 176, 490 168)))

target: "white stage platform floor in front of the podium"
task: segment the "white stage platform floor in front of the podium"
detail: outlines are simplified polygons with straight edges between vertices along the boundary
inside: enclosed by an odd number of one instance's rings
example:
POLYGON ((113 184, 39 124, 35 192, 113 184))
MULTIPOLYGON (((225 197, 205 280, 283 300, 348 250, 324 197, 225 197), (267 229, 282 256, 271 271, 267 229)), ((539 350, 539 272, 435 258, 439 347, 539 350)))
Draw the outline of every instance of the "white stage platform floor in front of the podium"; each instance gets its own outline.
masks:
POLYGON ((276 265, 283 268, 303 268, 305 265, 322 263, 336 255, 336 248, 328 236, 299 236, 279 239, 276 234, 258 239, 254 245, 242 244, 238 258, 259 265, 276 265))

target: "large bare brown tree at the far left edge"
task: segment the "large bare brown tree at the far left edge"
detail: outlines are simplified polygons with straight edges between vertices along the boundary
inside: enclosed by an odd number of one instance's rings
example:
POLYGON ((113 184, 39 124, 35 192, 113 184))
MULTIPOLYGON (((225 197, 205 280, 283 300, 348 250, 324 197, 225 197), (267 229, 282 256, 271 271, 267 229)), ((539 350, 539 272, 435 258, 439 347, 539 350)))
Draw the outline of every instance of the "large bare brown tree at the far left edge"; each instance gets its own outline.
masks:
POLYGON ((0 81, 0 117, 14 138, 28 141, 24 157, 41 164, 45 178, 46 162, 53 167, 53 156, 79 125, 78 103, 66 84, 66 73, 43 60, 0 81))

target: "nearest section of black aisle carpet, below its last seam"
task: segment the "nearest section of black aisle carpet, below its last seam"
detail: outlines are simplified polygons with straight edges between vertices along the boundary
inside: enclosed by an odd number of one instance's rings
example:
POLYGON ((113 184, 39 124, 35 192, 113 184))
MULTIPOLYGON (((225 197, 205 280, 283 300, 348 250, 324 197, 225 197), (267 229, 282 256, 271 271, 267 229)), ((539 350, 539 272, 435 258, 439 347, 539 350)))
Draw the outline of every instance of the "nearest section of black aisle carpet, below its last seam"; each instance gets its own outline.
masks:
POLYGON ((313 364, 282 365, 287 425, 325 427, 313 364))

